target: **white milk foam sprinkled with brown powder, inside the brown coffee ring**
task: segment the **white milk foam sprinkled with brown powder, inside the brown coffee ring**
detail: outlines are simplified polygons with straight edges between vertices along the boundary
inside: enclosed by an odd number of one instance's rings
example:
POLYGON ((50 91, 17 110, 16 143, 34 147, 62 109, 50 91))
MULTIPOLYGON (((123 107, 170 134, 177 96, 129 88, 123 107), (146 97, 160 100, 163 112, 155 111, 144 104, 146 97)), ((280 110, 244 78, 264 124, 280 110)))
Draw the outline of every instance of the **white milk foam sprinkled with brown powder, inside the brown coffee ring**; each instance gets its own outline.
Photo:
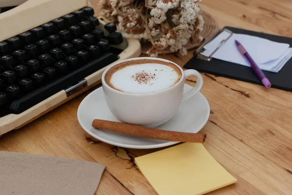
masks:
POLYGON ((110 78, 111 85, 127 93, 153 93, 173 86, 179 81, 179 75, 172 67, 145 63, 129 65, 114 72, 110 78))

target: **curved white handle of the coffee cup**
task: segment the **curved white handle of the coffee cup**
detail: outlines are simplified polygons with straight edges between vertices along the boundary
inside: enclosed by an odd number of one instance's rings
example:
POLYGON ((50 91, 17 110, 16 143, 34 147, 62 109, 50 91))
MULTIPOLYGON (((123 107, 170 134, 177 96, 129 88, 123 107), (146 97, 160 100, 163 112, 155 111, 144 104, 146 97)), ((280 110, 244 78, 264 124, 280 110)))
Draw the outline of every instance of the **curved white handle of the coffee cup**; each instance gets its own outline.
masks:
POLYGON ((187 100, 188 98, 191 98, 191 97, 195 96, 201 90, 201 88, 203 86, 203 78, 202 78, 201 74, 198 71, 193 70, 193 69, 189 69, 189 70, 183 71, 183 73, 184 73, 184 80, 186 78, 188 78, 189 76, 191 76, 191 75, 197 76, 197 83, 193 87, 193 89, 191 89, 189 92, 183 94, 182 102, 187 100))

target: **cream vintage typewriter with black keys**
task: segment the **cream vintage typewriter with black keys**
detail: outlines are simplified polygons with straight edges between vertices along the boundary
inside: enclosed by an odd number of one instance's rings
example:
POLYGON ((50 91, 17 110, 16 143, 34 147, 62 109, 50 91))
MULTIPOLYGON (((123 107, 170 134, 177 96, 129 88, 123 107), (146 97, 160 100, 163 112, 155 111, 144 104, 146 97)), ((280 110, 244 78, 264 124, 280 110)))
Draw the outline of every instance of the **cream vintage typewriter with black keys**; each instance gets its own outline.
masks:
MULTIPOLYGON (((0 1, 1 2, 1 1, 0 1)), ((112 63, 138 57, 88 0, 27 0, 0 14, 0 135, 100 83, 112 63)))

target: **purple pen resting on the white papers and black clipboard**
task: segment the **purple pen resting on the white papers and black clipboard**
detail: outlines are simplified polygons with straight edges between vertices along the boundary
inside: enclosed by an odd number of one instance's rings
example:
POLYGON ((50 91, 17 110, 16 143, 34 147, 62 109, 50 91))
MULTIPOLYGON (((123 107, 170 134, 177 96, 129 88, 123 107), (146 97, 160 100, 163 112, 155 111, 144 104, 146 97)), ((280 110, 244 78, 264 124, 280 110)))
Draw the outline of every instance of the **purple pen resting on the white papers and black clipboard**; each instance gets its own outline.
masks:
POLYGON ((256 65, 254 59, 252 59, 252 57, 248 54, 248 52, 244 49, 244 47, 240 44, 238 40, 235 40, 235 43, 240 54, 250 62, 251 67, 255 71, 257 77, 262 81, 262 83, 267 88, 270 88, 272 84, 270 83, 269 79, 265 76, 265 74, 261 71, 261 69, 256 65))

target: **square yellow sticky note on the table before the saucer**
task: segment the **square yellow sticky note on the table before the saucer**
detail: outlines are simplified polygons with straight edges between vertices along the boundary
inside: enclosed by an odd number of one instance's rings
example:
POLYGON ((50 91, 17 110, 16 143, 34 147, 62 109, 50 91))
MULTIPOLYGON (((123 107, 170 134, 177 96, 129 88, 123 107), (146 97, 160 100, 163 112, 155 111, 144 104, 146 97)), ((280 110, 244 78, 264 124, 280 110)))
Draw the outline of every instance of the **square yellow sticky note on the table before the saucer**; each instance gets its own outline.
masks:
POLYGON ((183 143, 135 162, 159 195, 202 195, 237 182, 201 143, 183 143))

